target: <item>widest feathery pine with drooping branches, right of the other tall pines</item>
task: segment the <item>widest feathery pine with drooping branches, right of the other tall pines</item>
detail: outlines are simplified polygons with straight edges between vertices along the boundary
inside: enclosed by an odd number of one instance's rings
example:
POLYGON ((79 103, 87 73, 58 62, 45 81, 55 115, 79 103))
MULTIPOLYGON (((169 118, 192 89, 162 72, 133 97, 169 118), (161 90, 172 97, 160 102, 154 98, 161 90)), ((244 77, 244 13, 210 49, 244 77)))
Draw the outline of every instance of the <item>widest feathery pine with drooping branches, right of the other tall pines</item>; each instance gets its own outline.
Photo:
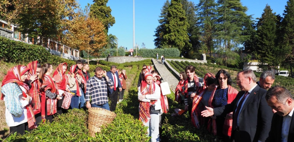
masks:
POLYGON ((216 47, 218 54, 222 55, 218 56, 217 62, 227 66, 227 63, 234 64, 239 58, 233 50, 239 50, 239 45, 250 38, 243 32, 251 26, 252 17, 246 14, 248 8, 242 6, 240 0, 218 0, 217 3, 216 47))

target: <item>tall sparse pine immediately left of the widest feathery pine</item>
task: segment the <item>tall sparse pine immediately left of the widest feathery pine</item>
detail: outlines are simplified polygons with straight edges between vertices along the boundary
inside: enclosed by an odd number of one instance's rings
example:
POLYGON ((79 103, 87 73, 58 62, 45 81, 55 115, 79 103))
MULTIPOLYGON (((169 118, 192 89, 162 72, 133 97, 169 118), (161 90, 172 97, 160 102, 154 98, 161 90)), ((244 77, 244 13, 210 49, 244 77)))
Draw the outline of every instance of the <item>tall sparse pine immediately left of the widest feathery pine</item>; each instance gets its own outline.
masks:
POLYGON ((206 46, 207 53, 211 55, 211 49, 214 46, 215 22, 217 4, 214 0, 199 0, 197 8, 197 25, 201 32, 201 42, 206 46))

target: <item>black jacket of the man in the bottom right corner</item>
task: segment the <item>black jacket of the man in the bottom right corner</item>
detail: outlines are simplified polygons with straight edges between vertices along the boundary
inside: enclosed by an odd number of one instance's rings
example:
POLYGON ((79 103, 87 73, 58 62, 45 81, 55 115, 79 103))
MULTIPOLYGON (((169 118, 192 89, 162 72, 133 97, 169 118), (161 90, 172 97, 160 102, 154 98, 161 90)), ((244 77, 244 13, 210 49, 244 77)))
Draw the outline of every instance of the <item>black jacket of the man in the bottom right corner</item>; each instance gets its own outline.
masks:
MULTIPOLYGON (((272 125, 270 127, 270 133, 265 142, 281 142, 282 139, 282 126, 283 126, 283 116, 279 116, 277 113, 274 114, 272 125)), ((290 123, 288 142, 294 141, 294 117, 290 123)))

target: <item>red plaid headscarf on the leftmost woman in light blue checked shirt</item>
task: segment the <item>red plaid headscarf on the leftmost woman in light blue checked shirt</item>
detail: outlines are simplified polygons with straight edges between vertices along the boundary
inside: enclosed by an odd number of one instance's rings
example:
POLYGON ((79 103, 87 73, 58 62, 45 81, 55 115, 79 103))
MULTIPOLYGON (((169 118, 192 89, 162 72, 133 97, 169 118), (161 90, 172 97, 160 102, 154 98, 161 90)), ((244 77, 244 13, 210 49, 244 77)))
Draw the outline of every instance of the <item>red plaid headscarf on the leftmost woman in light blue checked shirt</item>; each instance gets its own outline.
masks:
MULTIPOLYGON (((27 71, 29 71, 30 69, 27 68, 26 66, 23 65, 17 65, 12 67, 11 69, 9 69, 7 71, 7 75, 4 76, 3 81, 2 81, 2 86, 4 86, 7 83, 13 83, 16 82, 19 86, 22 86, 26 89, 26 92, 29 93, 29 86, 21 81, 21 76, 24 75, 24 73, 26 73, 27 71)), ((23 96, 27 97, 26 93, 24 93, 23 91, 23 96)), ((4 95, 1 95, 1 100, 4 99, 4 95)), ((36 125, 36 119, 35 119, 35 115, 33 112, 33 109, 30 105, 26 106, 26 115, 28 118, 28 126, 30 129, 34 129, 37 128, 36 125)))

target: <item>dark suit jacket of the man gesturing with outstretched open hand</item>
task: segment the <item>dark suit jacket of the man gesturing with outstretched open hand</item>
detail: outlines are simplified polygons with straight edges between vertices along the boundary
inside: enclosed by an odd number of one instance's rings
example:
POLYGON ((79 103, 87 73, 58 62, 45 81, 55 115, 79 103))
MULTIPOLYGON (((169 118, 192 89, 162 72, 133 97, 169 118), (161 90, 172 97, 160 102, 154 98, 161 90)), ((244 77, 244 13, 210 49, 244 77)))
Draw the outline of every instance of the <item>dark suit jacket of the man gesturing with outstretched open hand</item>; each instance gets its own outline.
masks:
MULTIPOLYGON (((240 91, 232 103, 222 107, 214 108, 214 115, 227 114, 233 112, 233 123, 237 121, 234 118, 237 109, 237 103, 245 92, 240 91)), ((265 141, 270 131, 270 123, 273 117, 272 110, 265 100, 266 90, 258 85, 252 90, 244 103, 239 115, 239 127, 241 142, 265 141)), ((232 130, 232 136, 234 136, 232 130)))

